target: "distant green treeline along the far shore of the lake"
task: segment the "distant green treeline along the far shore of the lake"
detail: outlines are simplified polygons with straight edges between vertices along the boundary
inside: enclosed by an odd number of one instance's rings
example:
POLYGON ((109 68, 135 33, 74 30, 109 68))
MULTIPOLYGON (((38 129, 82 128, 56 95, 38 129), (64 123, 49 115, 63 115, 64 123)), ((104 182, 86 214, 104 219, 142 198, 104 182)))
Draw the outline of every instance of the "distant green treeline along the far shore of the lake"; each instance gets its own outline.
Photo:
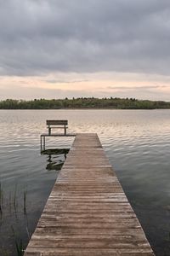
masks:
POLYGON ((7 99, 0 102, 0 109, 57 109, 57 108, 121 108, 155 109, 170 108, 170 102, 141 101, 134 98, 72 98, 72 99, 35 99, 32 101, 7 99))

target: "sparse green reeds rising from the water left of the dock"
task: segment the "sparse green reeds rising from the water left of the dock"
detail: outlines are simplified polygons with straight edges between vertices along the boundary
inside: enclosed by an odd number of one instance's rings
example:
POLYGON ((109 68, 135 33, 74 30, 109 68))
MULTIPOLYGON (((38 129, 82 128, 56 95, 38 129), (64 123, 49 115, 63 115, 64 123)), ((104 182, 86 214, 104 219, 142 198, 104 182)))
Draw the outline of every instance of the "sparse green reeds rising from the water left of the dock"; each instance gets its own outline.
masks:
MULTIPOLYGON (((4 243, 4 247, 0 247, 0 255, 8 256, 14 254, 17 256, 23 256, 24 248, 26 248, 28 239, 30 240, 30 232, 28 229, 28 219, 26 212, 27 190, 26 187, 24 189, 24 202, 21 203, 20 198, 23 197, 23 192, 18 189, 17 183, 15 184, 14 191, 9 190, 8 194, 6 193, 7 191, 4 190, 4 185, 0 181, 0 226, 3 227, 5 225, 8 227, 8 229, 5 229, 8 230, 7 234, 5 233, 5 235, 10 238, 8 247, 6 243, 4 243), (22 209, 22 207, 24 207, 24 215, 26 221, 25 233, 27 234, 28 238, 26 238, 26 236, 24 236, 24 238, 20 238, 19 220, 21 217, 20 209, 22 209), (11 221, 9 216, 11 216, 11 221), (9 227, 11 227, 12 233, 10 232, 9 227)), ((1 232, 1 239, 3 239, 3 231, 1 232)))

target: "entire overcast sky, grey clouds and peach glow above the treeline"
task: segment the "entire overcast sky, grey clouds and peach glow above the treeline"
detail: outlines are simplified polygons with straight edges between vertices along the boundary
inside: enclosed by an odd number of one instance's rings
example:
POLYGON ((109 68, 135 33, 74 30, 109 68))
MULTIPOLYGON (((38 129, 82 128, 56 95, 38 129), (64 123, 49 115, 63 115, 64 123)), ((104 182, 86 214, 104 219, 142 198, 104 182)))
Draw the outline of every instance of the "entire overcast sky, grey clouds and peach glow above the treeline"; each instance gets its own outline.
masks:
POLYGON ((170 101, 169 0, 0 0, 0 98, 170 101))

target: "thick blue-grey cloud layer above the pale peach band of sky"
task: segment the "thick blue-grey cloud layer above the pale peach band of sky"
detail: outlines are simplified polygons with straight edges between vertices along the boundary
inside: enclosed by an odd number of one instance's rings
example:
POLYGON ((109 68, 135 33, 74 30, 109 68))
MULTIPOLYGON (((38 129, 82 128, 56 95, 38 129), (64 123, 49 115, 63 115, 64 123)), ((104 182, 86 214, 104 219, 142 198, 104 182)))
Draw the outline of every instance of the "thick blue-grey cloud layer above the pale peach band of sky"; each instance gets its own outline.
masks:
POLYGON ((169 74, 167 0, 0 0, 0 75, 169 74))

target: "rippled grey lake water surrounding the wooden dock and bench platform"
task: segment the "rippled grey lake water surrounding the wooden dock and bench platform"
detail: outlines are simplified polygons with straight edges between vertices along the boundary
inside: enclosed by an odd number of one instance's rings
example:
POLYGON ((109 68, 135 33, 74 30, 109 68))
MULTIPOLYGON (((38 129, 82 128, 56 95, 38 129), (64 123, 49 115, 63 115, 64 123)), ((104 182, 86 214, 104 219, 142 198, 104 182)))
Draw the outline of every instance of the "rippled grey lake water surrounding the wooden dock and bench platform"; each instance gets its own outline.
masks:
MULTIPOLYGON (((65 160, 40 154, 46 119, 98 133, 156 255, 170 255, 170 110, 1 110, 0 255, 26 247, 65 160)), ((48 138, 47 147, 72 141, 48 138)))

